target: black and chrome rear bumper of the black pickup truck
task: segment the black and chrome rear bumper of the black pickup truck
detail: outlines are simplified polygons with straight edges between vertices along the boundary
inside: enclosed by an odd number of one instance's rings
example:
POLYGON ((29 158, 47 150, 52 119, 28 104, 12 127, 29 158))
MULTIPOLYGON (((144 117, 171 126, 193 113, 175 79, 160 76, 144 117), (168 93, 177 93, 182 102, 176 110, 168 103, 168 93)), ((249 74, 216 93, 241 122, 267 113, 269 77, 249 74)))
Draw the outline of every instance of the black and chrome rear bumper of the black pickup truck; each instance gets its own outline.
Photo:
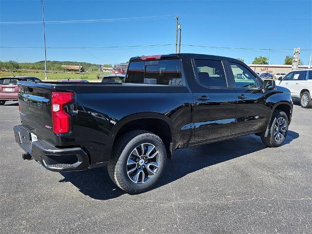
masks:
POLYGON ((89 167, 89 157, 80 147, 57 148, 39 136, 38 141, 31 141, 30 133, 36 132, 25 125, 17 125, 13 131, 20 147, 50 171, 82 171, 89 167))

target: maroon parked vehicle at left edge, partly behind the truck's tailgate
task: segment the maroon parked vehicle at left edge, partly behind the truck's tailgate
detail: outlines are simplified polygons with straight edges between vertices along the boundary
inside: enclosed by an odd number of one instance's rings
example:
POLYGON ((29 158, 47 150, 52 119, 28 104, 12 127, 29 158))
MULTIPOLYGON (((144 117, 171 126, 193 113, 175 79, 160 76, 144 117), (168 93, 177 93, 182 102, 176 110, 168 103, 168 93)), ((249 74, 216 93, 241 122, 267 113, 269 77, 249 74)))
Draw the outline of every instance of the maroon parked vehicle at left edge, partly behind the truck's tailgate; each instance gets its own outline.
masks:
POLYGON ((2 77, 0 78, 0 105, 4 105, 6 101, 17 101, 19 87, 18 81, 37 81, 41 80, 37 77, 2 77))

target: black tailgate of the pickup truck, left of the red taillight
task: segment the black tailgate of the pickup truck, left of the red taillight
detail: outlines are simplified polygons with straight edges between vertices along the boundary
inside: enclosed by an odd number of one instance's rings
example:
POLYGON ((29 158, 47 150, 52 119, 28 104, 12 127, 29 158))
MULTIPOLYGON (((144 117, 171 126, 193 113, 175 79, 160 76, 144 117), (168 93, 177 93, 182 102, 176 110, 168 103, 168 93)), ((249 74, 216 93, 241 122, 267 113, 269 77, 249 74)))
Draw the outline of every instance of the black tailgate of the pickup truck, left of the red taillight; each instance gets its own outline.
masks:
POLYGON ((50 84, 20 82, 20 119, 35 135, 54 143, 50 84))

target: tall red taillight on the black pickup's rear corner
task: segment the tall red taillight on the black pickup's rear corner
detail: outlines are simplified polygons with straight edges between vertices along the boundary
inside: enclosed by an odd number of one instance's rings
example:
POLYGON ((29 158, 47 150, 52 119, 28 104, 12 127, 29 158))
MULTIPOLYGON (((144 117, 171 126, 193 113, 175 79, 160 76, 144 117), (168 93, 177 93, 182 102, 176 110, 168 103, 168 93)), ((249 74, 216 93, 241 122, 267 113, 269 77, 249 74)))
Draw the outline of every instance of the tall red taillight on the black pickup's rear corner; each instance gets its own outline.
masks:
POLYGON ((52 122, 54 133, 62 134, 70 132, 71 116, 65 111, 65 105, 74 100, 73 93, 52 92, 52 122))

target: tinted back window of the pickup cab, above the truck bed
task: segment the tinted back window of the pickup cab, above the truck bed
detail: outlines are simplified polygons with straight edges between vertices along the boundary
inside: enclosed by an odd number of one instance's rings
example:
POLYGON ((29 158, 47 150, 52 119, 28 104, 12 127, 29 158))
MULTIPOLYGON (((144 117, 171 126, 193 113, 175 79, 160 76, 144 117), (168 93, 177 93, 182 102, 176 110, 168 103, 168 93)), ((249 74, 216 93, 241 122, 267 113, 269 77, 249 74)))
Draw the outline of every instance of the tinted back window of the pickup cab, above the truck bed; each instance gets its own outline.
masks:
POLYGON ((180 60, 159 60, 155 65, 131 62, 126 83, 182 85, 180 60))

